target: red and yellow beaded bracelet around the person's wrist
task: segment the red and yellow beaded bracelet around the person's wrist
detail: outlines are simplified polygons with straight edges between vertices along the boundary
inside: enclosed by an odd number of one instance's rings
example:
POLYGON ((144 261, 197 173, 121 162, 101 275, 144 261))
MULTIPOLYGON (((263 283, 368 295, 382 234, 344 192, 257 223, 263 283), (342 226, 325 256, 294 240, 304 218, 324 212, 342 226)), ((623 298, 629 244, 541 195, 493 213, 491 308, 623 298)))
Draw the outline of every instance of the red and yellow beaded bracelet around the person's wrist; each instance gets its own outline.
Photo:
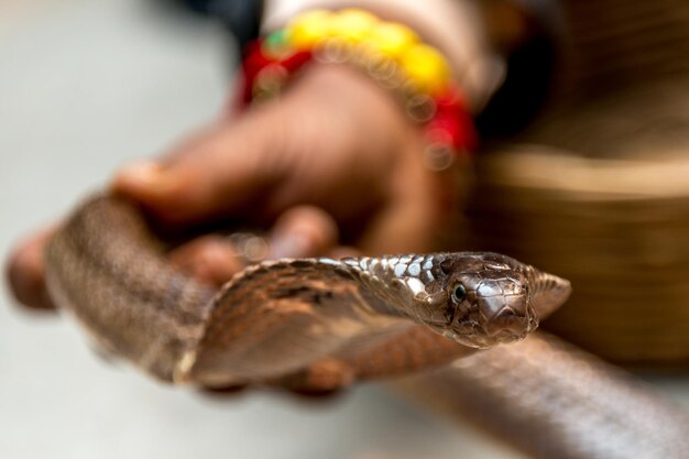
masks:
POLYGON ((243 102, 273 98, 309 62, 349 64, 400 99, 428 140, 425 162, 449 167, 477 145, 467 105, 440 52, 407 26, 363 10, 311 10, 245 50, 243 102))

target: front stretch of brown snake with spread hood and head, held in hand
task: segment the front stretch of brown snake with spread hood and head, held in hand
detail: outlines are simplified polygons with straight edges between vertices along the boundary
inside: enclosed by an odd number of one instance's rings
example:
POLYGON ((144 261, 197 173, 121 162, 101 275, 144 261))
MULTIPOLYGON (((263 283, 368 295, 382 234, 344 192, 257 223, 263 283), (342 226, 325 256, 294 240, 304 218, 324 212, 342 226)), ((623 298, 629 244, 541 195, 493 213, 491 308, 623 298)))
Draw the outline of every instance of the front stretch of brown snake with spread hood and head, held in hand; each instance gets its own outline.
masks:
POLYGON ((270 382, 321 362, 343 381, 408 372, 461 345, 522 339, 536 309, 569 295, 568 282, 493 253, 278 260, 216 292, 161 249, 132 204, 97 197, 48 244, 46 277, 97 341, 177 383, 270 382))

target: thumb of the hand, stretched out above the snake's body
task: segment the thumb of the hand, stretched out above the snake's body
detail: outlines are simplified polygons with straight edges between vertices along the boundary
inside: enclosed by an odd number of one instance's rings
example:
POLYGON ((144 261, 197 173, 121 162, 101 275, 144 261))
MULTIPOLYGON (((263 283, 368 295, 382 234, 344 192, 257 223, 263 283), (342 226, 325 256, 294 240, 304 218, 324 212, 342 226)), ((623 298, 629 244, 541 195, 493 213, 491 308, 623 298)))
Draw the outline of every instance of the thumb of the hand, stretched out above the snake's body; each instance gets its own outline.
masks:
POLYGON ((141 203, 164 222, 250 215, 284 175, 281 107, 218 123, 158 162, 123 167, 111 189, 141 203))

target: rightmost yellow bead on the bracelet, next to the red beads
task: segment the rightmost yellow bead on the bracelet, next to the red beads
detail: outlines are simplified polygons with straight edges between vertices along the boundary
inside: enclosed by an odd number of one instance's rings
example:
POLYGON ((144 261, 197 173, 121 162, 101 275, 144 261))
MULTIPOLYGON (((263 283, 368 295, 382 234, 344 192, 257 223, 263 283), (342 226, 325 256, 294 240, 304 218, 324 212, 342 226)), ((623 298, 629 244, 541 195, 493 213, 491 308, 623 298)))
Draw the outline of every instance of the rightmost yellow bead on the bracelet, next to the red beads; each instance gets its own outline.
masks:
POLYGON ((422 91, 436 95, 449 83, 450 67, 442 54, 433 46, 414 45, 402 56, 401 64, 412 83, 422 91))

